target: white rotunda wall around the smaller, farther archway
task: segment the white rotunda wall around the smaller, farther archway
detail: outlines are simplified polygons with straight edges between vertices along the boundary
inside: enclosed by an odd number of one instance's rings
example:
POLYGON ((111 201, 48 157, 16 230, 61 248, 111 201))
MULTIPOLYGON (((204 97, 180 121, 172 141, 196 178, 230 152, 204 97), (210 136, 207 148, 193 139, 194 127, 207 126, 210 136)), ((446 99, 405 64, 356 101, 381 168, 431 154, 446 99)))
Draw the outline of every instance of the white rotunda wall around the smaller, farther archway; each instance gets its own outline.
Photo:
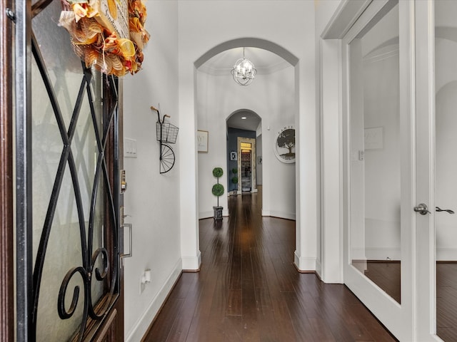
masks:
MULTIPOLYGON (((255 61, 254 61, 255 63, 255 61)), ((264 177, 262 213, 286 219, 296 218, 296 164, 284 164, 275 157, 274 142, 278 131, 294 124, 295 82, 293 66, 261 74, 250 86, 238 86, 231 74, 211 76, 197 72, 197 125, 209 131, 209 151, 199 153, 199 217, 211 217, 216 197, 211 187, 216 182, 211 170, 221 166, 226 172, 226 118, 244 108, 262 119, 264 177)), ((227 208, 227 197, 219 203, 227 208)))

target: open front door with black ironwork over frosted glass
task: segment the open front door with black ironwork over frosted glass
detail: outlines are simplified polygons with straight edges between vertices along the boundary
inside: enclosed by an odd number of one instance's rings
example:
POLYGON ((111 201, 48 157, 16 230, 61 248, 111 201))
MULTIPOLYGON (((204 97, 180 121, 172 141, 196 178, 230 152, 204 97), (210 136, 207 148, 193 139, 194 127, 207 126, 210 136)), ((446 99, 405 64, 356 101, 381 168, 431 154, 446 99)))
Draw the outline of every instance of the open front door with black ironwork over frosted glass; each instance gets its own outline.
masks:
POLYGON ((119 81, 81 64, 60 1, 32 2, 16 1, 17 340, 124 341, 119 81))

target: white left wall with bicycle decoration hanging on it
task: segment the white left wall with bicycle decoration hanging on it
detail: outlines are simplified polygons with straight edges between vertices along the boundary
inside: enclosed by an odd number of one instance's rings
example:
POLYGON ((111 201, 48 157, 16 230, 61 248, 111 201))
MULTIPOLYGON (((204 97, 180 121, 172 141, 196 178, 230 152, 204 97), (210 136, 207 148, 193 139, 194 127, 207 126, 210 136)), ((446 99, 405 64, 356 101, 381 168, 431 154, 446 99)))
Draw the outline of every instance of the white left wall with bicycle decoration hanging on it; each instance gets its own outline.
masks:
MULTIPOLYGON (((179 144, 171 145, 176 164, 159 175, 159 142, 151 105, 178 115, 177 1, 145 1, 146 29, 151 40, 144 50, 143 70, 124 77, 124 138, 136 140, 137 157, 124 158, 128 189, 126 222, 133 224, 133 256, 125 259, 125 338, 140 341, 181 272, 179 229, 179 144), (152 281, 139 293, 141 274, 151 269, 152 281)), ((180 135, 178 135, 178 140, 180 135)))

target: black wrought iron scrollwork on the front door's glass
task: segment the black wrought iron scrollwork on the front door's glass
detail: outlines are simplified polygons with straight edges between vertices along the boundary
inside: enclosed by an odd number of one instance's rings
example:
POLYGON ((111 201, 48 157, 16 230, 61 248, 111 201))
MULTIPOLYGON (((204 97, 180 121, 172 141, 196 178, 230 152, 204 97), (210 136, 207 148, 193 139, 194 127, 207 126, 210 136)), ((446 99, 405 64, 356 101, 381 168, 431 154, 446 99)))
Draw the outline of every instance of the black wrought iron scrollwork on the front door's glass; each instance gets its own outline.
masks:
MULTIPOLYGON (((45 4, 48 1, 41 1, 45 4)), ((36 10, 38 11, 38 9, 36 10)), ((74 266, 69 271, 67 271, 64 279, 61 282, 59 289, 59 295, 57 299, 58 307, 57 311, 61 319, 68 319, 74 315, 76 307, 79 304, 80 297, 84 302, 83 316, 81 318, 81 325, 79 326, 78 340, 82 341, 84 338, 84 333, 86 329, 86 321, 89 318, 92 318, 95 321, 100 321, 101 318, 104 318, 106 313, 109 311, 111 305, 114 302, 116 291, 119 291, 119 256, 117 255, 118 249, 118 234, 117 228, 119 226, 119 213, 116 211, 116 194, 112 192, 113 186, 111 185, 109 167, 106 162, 106 150, 107 143, 109 140, 110 130, 115 123, 115 115, 117 111, 118 104, 118 94, 116 90, 116 80, 111 76, 111 78, 104 78, 104 86, 109 90, 109 101, 106 101, 106 106, 108 107, 105 110, 103 131, 99 132, 97 125, 96 110, 94 108, 94 100, 91 94, 91 79, 92 72, 90 68, 86 68, 84 64, 82 65, 83 76, 81 81, 81 86, 79 88, 78 97, 76 99, 76 104, 74 105, 74 110, 71 115, 71 121, 69 123, 68 129, 64 123, 64 119, 61 114, 61 109, 59 107, 59 102, 57 100, 56 94, 54 93, 53 86, 51 84, 49 75, 46 71, 46 66, 44 64, 44 59, 41 56, 39 50, 39 44, 34 37, 32 32, 32 41, 31 41, 32 53, 34 55, 36 65, 39 68, 41 78, 46 87, 46 91, 49 95, 49 100, 51 102, 52 110, 56 118, 56 123, 59 126, 59 133, 61 135, 61 140, 63 142, 63 147, 61 151, 61 157, 59 160, 59 166, 56 171, 56 178, 54 180, 54 185, 51 192, 51 199, 49 200, 48 209, 46 212, 46 218, 44 220, 44 227, 41 232, 41 238, 39 242, 39 249, 36 254, 36 263, 34 266, 33 273, 33 309, 32 309, 32 330, 34 335, 36 334, 36 322, 37 322, 37 311, 39 303, 39 294, 41 287, 41 279, 43 276, 44 268, 44 259, 46 257, 46 247, 49 242, 49 236, 51 234, 51 227, 54 222, 54 214, 56 212, 56 203, 59 198, 59 193, 61 185, 64 179, 64 172, 66 166, 69 167, 69 172, 71 173, 71 182, 74 190, 74 198, 76 202, 76 209, 78 214, 79 221, 79 235, 81 239, 81 265, 74 266), (79 118, 79 112, 81 110, 81 103, 84 96, 87 95, 89 99, 89 106, 91 110, 91 121, 94 125, 95 138, 96 138, 96 150, 98 151, 98 156, 96 160, 96 170, 94 174, 94 183, 91 192, 91 204, 90 204, 90 213, 89 213, 89 227, 86 232, 86 224, 84 217, 84 207, 83 200, 81 196, 79 180, 77 177, 76 163, 74 160, 73 152, 71 151, 71 142, 74 138, 74 133, 76 130, 76 123, 79 118), (110 241, 105 242, 111 246, 111 249, 114 250, 114 254, 111 254, 111 263, 110 263, 110 253, 104 248, 100 247, 92 253, 92 245, 94 240, 94 217, 96 209, 96 199, 97 191, 99 189, 100 182, 104 182, 104 193, 106 195, 106 220, 109 220, 109 224, 106 227, 111 227, 109 236, 110 241), (99 265, 99 266, 96 266, 99 265), (65 297, 67 291, 69 291, 69 286, 71 279, 76 275, 81 276, 83 281, 84 289, 80 289, 80 286, 74 286, 73 295, 71 297, 71 304, 69 308, 65 306, 65 297), (94 304, 91 294, 91 285, 93 281, 103 281, 105 287, 105 294, 107 300, 101 307, 94 309, 94 304)), ((116 187, 114 187, 116 188, 116 187)), ((70 290, 71 291, 71 290, 70 290)))

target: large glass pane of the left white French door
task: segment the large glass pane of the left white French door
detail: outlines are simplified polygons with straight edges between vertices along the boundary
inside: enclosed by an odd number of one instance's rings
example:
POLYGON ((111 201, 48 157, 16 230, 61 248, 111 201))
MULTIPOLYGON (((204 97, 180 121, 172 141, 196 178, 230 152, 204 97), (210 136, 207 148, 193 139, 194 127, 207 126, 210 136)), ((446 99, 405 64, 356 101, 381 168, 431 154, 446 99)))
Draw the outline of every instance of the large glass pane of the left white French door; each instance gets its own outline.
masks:
POLYGON ((349 63, 351 263, 401 303, 398 5, 351 41, 349 63))

